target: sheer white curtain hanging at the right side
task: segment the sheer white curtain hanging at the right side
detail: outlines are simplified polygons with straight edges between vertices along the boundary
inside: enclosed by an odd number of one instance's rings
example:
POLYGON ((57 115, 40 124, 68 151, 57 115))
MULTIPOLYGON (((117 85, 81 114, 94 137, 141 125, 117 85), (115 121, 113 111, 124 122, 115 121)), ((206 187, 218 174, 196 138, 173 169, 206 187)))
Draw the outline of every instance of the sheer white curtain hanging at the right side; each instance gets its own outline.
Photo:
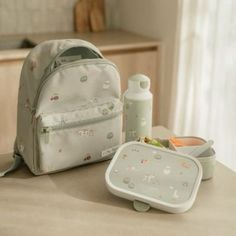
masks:
POLYGON ((236 1, 180 1, 177 50, 170 126, 213 139, 236 170, 236 1))

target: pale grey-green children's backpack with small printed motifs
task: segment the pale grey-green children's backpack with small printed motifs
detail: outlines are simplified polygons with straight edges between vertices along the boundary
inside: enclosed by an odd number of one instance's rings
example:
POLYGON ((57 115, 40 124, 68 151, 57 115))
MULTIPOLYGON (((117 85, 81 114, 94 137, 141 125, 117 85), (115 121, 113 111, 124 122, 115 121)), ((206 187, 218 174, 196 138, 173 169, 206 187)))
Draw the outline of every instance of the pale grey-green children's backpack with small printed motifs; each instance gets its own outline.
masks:
POLYGON ((119 73, 94 45, 43 42, 22 68, 15 152, 34 174, 110 158, 121 113, 119 73))

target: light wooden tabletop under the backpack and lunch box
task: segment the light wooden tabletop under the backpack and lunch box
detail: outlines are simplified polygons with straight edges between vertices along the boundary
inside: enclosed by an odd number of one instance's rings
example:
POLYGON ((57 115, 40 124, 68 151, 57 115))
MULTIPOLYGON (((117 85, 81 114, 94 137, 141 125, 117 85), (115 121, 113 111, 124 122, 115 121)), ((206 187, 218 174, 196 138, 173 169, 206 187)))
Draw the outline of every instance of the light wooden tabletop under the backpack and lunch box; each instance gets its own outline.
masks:
MULTIPOLYGON (((153 136, 173 134, 155 127, 153 136)), ((0 157, 0 168, 10 155, 0 157)), ((202 181, 193 207, 182 214, 138 213, 105 186, 109 161, 33 176, 23 166, 0 179, 1 235, 236 235, 236 173, 219 162, 202 181)))

